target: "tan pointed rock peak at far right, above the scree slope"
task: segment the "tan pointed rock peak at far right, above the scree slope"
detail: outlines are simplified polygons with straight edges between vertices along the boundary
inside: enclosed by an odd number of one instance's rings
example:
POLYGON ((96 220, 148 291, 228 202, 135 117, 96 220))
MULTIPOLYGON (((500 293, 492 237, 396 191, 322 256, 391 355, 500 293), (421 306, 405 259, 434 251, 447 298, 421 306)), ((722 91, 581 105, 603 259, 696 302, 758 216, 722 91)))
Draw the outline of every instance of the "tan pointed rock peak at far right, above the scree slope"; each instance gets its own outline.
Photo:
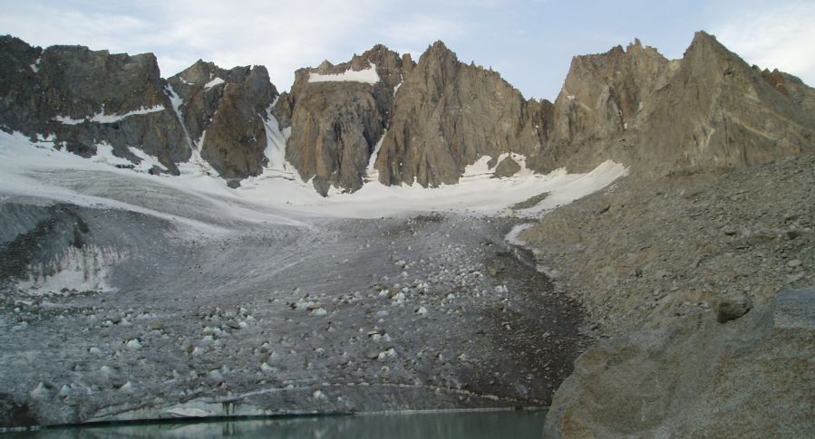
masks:
POLYGON ((647 129, 638 142, 653 157, 643 161, 662 172, 767 163, 811 151, 815 139, 815 114, 707 33, 696 33, 644 110, 647 129))

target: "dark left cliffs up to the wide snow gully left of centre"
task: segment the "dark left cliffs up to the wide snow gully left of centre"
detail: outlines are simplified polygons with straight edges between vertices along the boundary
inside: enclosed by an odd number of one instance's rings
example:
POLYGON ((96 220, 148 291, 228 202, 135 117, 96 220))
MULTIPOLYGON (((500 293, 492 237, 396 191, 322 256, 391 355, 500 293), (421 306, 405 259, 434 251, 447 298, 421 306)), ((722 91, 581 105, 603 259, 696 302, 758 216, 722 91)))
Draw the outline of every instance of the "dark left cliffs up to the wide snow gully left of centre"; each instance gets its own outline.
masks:
POLYGON ((6 130, 53 139, 85 157, 100 145, 135 165, 142 153, 158 157, 162 167, 150 172, 178 174, 193 148, 230 182, 266 163, 264 122, 277 89, 265 67, 226 71, 196 62, 168 81, 151 53, 42 50, 10 36, 0 37, 0 58, 6 130))

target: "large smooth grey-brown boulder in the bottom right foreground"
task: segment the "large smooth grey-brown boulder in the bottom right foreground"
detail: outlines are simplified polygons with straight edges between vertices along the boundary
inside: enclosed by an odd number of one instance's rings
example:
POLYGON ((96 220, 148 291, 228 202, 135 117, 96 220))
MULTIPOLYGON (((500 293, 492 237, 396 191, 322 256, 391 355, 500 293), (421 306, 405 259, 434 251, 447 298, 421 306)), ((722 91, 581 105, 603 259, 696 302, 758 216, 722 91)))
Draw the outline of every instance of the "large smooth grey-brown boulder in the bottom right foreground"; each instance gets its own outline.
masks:
POLYGON ((607 339, 555 394, 546 437, 812 437, 815 289, 607 339))

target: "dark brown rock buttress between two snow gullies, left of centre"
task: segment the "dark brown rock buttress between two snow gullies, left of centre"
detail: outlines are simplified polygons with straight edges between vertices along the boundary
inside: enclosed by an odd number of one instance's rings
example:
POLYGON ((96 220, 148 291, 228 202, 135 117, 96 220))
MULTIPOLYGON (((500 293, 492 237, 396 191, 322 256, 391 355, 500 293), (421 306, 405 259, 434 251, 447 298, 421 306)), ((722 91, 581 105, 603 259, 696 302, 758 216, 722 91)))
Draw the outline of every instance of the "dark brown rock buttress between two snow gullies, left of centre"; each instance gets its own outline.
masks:
POLYGON ((263 66, 224 70, 199 61, 169 80, 201 157, 230 183, 257 176, 267 162, 264 121, 277 98, 263 66))

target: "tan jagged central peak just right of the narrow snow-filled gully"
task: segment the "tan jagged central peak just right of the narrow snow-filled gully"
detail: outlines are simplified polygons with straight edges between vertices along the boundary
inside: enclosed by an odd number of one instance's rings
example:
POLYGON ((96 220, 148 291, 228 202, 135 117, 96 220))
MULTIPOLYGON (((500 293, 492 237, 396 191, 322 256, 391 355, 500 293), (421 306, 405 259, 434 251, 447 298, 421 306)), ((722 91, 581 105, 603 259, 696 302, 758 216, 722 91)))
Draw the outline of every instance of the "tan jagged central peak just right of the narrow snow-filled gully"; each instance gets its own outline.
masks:
POLYGON ((551 105, 524 100, 491 72, 437 42, 404 75, 375 167, 387 185, 458 183, 481 156, 542 153, 551 105))

